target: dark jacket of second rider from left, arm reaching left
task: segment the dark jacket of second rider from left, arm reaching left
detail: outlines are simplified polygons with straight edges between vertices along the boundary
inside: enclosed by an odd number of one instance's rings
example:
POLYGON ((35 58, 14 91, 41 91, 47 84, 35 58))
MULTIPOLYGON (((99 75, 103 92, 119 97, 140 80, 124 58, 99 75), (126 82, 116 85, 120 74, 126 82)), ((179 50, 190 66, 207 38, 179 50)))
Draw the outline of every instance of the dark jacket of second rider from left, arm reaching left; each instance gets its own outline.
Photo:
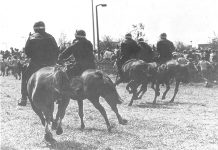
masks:
POLYGON ((95 69, 93 46, 87 39, 74 40, 73 45, 60 54, 59 60, 67 59, 71 55, 74 56, 76 64, 81 67, 82 71, 95 69))

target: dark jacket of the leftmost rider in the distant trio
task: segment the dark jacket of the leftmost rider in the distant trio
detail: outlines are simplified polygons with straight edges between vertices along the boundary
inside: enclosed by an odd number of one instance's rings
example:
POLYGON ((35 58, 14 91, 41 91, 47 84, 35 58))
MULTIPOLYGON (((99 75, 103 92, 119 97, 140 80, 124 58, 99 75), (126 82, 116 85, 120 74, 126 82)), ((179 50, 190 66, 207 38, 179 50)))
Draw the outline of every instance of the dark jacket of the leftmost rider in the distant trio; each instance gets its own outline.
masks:
POLYGON ((121 43, 121 57, 122 61, 125 62, 132 58, 137 58, 139 52, 139 46, 133 39, 126 39, 121 43))

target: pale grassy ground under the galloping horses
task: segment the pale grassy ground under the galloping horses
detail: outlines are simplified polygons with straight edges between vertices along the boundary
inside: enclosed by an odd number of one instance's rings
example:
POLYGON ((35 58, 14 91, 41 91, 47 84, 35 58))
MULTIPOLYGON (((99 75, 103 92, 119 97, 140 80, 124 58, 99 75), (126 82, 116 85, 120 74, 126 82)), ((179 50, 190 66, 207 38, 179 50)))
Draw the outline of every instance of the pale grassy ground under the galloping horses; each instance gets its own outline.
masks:
MULTIPOLYGON (((92 149, 152 149, 152 150, 217 150, 218 149, 218 87, 202 84, 181 85, 174 103, 158 98, 152 105, 154 92, 148 89, 142 100, 128 106, 130 95, 125 84, 118 86, 124 99, 119 112, 128 120, 119 125, 116 115, 101 99, 114 126, 107 132, 103 117, 88 101, 84 101, 86 128, 80 130, 76 101, 71 101, 63 120, 64 133, 56 135, 56 143, 44 141, 44 128, 30 104, 18 107, 20 82, 14 77, 0 77, 1 149, 2 150, 92 150, 92 149)), ((164 87, 161 88, 161 91, 164 87)))

